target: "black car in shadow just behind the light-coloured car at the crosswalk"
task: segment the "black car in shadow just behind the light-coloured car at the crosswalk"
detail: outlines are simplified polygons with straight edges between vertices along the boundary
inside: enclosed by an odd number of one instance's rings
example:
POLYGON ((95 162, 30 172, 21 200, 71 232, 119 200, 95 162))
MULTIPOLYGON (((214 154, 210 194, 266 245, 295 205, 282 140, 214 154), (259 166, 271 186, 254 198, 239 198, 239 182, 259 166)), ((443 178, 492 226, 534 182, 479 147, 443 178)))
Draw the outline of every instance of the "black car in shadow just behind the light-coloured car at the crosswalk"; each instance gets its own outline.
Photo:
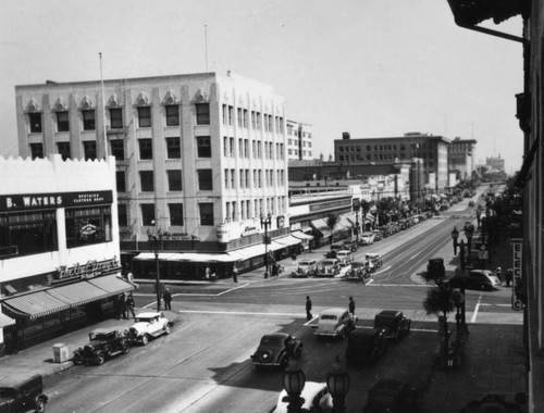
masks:
POLYGON ((347 338, 346 360, 353 364, 370 364, 387 352, 385 328, 357 328, 347 338))

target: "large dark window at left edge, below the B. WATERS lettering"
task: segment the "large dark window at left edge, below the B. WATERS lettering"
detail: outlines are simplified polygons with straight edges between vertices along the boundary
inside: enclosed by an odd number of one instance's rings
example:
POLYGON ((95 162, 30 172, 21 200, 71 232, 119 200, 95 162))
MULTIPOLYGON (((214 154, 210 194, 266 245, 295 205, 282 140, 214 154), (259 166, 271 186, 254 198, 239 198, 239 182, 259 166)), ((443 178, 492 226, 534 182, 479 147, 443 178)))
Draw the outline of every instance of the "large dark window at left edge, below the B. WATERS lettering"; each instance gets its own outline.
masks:
POLYGON ((0 253, 22 256, 58 248, 54 211, 0 213, 0 253))

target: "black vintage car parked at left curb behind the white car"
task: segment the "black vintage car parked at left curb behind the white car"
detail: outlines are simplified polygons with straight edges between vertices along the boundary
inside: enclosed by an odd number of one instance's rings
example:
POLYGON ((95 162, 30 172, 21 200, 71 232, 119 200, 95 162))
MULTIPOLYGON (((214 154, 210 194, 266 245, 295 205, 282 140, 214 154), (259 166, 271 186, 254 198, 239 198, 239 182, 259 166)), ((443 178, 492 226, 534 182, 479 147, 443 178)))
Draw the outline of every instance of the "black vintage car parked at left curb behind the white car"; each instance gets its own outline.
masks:
POLYGON ((103 364, 112 355, 131 350, 127 330, 121 327, 98 328, 89 333, 89 343, 74 351, 74 364, 103 364))

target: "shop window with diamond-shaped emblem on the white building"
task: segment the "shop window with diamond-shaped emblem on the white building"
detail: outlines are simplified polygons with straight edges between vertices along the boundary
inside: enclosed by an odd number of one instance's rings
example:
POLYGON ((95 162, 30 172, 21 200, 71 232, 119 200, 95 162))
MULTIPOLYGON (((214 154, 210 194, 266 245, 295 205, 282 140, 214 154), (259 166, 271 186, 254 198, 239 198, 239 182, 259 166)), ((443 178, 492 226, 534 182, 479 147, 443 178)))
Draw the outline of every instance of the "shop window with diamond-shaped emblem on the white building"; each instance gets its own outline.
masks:
POLYGON ((67 248, 111 241, 111 206, 69 208, 65 224, 67 248))

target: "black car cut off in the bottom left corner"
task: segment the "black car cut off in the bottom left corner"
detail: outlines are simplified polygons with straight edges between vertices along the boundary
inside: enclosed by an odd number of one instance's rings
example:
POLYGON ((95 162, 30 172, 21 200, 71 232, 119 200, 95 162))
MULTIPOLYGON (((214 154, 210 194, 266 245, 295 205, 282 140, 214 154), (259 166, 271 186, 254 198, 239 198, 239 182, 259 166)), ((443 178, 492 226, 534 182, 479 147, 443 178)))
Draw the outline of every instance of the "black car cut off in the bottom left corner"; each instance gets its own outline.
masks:
POLYGON ((0 379, 0 413, 45 412, 47 396, 39 374, 0 379))

